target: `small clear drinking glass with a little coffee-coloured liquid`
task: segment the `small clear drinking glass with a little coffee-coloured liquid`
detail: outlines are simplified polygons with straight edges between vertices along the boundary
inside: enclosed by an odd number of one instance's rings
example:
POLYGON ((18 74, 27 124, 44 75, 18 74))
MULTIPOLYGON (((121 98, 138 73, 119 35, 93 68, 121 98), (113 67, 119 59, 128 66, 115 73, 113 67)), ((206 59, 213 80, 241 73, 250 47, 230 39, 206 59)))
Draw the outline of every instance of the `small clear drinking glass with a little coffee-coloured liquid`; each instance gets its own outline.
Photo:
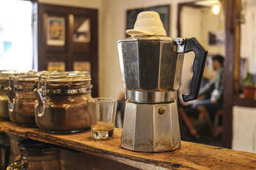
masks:
POLYGON ((117 99, 113 97, 88 99, 92 138, 108 139, 113 136, 116 119, 116 105, 117 99))

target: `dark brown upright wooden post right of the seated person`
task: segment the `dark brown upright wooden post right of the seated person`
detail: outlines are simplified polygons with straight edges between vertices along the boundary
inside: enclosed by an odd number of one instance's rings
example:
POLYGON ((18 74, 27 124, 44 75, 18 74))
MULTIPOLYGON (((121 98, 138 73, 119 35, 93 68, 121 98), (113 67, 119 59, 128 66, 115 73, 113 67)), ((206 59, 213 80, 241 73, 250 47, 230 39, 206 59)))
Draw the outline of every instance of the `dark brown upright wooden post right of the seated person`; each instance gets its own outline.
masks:
POLYGON ((223 114, 223 146, 232 146, 232 109, 239 96, 241 0, 222 0, 226 18, 225 91, 223 114))

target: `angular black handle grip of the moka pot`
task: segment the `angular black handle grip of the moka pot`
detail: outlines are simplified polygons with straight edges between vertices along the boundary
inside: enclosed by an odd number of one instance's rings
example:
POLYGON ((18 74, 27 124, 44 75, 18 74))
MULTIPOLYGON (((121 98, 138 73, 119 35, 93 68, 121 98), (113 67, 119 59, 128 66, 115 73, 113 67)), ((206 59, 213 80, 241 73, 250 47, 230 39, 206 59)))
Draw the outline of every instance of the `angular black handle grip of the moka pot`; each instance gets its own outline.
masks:
POLYGON ((188 38, 186 39, 184 52, 195 52, 190 93, 182 94, 183 101, 187 102, 195 100, 198 97, 208 51, 197 38, 188 38))

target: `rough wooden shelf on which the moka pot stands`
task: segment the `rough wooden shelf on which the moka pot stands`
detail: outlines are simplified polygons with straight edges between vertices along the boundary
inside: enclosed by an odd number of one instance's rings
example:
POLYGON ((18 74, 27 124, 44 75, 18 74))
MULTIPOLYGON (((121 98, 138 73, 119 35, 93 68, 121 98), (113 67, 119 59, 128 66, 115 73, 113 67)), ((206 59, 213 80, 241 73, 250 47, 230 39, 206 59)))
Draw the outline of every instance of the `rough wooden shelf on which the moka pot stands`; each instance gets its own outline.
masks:
POLYGON ((140 169, 156 169, 157 167, 170 169, 253 169, 256 167, 256 154, 254 153, 184 141, 182 141, 181 148, 173 152, 131 152, 120 147, 121 129, 115 129, 112 139, 102 141, 92 139, 90 131, 77 134, 47 134, 38 128, 19 127, 13 122, 3 121, 0 121, 0 131, 90 153, 140 169))

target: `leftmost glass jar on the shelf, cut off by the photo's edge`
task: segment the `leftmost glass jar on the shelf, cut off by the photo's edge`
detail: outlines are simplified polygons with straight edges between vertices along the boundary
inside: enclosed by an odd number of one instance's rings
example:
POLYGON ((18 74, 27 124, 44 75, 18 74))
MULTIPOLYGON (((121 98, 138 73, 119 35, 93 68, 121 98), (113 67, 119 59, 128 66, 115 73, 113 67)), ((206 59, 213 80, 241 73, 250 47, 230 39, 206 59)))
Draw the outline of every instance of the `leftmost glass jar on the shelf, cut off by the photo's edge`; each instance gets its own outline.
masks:
POLYGON ((0 71, 0 120, 10 120, 8 110, 10 100, 4 89, 9 87, 9 77, 13 74, 14 71, 0 71))

